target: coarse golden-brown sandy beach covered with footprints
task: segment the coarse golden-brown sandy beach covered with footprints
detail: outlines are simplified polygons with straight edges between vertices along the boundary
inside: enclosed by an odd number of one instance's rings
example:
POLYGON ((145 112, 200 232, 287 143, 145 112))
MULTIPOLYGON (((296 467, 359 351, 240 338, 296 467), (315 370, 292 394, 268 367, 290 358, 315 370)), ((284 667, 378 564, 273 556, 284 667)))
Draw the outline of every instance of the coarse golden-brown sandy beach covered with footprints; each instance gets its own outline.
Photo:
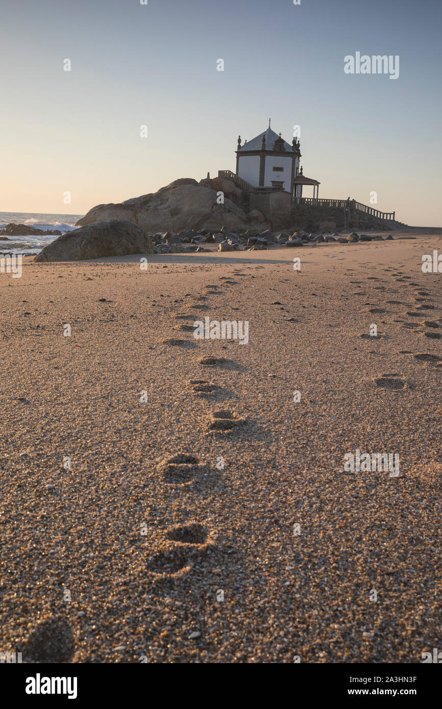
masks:
POLYGON ((0 649, 438 647, 442 285, 421 256, 441 233, 1 274, 0 649), (205 317, 247 320, 248 344, 196 340, 205 317), (356 450, 399 454, 399 475, 344 470, 356 450))

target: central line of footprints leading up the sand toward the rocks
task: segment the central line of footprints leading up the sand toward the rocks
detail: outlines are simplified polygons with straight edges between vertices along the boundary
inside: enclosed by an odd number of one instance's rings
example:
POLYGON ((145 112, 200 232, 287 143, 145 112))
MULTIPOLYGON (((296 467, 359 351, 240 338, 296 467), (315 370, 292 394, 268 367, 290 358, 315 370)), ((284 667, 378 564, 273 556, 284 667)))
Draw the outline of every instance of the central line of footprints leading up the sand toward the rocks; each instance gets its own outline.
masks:
MULTIPOLYGON (((220 281, 224 284, 234 284, 234 281, 228 277, 220 277, 220 281)), ((205 286, 206 295, 217 296, 223 291, 219 290, 219 286, 208 284, 205 286)), ((192 297, 188 295, 188 297, 192 297)), ((206 311, 209 306, 201 305, 208 300, 206 296, 194 296, 194 302, 189 303, 187 308, 189 311, 198 309, 206 311), (197 301, 197 302, 196 302, 197 301)), ((197 320, 199 316, 194 313, 176 313, 176 320, 197 320)), ((178 322, 173 327, 174 330, 183 332, 192 332, 194 325, 178 322)), ((195 348, 197 345, 193 341, 168 338, 162 340, 162 343, 170 346, 195 348)), ((202 357, 199 359, 200 367, 227 367, 230 369, 236 368, 236 363, 225 357, 202 357)), ((213 381, 208 379, 189 379, 187 386, 195 396, 201 398, 225 398, 226 392, 221 386, 218 386, 213 381)), ((232 430, 238 428, 245 419, 240 418, 235 412, 225 408, 216 409, 209 416, 207 421, 207 433, 226 435, 232 430)), ((177 488, 189 488, 201 476, 208 474, 209 467, 207 464, 201 463, 199 457, 193 454, 179 453, 162 459, 157 466, 162 481, 166 485, 177 488)), ((187 523, 185 525, 177 525, 170 527, 165 532, 165 538, 168 546, 160 549, 148 558, 147 570, 158 579, 179 579, 184 574, 187 574, 194 562, 196 562, 204 552, 214 545, 215 535, 212 530, 197 522, 187 523), (172 546, 171 546, 172 545, 172 546)))

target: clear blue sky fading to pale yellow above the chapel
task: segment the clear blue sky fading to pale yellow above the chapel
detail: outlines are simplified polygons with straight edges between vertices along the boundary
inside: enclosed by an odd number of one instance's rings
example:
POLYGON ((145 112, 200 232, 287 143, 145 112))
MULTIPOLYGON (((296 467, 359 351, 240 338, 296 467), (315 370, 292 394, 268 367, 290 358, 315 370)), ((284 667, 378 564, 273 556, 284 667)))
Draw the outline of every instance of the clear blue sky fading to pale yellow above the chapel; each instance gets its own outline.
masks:
POLYGON ((234 170, 271 116, 319 197, 441 226, 441 26, 441 0, 0 0, 0 211, 234 170), (399 78, 345 74, 355 52, 399 78))

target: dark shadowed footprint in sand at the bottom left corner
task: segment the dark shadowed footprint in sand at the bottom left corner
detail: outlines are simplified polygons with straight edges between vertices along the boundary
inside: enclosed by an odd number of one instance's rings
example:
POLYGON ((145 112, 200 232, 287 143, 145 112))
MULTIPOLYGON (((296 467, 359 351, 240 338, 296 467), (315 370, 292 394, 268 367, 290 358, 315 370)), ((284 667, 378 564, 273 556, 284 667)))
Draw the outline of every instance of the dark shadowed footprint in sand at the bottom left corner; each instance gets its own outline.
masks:
POLYGON ((69 662, 74 654, 74 637, 66 618, 52 615, 37 623, 23 647, 23 654, 27 661, 69 662))

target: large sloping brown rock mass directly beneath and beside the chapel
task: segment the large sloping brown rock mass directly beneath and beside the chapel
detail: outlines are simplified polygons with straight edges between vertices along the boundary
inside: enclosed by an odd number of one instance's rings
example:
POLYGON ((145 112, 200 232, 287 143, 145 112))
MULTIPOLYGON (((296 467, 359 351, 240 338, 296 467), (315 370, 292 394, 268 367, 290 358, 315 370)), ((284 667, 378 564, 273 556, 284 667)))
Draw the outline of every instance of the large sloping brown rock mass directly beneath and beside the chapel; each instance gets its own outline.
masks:
POLYGON ((241 229, 248 225, 245 211, 229 199, 216 201, 216 190, 191 178, 177 179, 155 194, 128 199, 121 204, 99 204, 77 221, 76 226, 124 218, 138 224, 146 233, 177 233, 206 227, 216 230, 241 229))

